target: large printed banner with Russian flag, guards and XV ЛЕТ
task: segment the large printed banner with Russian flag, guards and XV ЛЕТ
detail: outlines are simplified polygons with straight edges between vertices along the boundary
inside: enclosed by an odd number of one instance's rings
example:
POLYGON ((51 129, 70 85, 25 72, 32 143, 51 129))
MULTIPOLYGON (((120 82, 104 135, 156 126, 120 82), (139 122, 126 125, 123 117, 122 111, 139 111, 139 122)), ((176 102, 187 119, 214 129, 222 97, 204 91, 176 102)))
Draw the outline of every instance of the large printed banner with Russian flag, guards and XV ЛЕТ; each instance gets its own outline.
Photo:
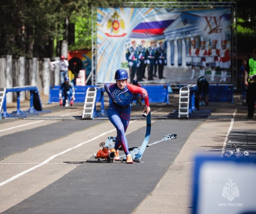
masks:
POLYGON ((98 8, 97 83, 231 82, 231 9, 98 8), (146 78, 146 79, 145 79, 146 78))

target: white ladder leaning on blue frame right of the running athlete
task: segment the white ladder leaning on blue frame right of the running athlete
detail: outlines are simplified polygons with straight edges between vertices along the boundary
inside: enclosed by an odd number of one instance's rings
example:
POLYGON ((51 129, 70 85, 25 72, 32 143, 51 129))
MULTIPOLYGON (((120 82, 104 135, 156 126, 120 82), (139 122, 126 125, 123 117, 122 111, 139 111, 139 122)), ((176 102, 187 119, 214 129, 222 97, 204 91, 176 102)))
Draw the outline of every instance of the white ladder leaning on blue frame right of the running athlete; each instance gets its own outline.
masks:
POLYGON ((188 118, 189 114, 189 86, 180 88, 179 118, 188 118))

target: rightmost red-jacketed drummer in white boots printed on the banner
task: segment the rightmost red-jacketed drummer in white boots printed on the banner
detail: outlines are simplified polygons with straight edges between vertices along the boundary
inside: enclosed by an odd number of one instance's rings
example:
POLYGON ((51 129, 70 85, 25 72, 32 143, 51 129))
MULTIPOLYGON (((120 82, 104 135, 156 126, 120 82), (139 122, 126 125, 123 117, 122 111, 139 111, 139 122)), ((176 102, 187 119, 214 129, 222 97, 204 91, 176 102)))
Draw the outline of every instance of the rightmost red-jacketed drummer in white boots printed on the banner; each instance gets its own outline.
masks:
POLYGON ((227 40, 221 41, 221 50, 220 50, 220 72, 221 79, 220 82, 226 82, 228 69, 230 67, 230 54, 227 49, 227 40))

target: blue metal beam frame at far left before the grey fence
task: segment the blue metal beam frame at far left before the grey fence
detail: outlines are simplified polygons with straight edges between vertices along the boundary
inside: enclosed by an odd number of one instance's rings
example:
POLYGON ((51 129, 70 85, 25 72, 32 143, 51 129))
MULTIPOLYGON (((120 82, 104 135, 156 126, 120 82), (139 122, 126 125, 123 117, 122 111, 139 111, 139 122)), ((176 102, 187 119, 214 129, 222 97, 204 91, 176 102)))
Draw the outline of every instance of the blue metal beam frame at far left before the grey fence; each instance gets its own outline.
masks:
POLYGON ((2 113, 3 118, 9 117, 27 117, 28 114, 39 114, 39 112, 51 112, 44 111, 40 99, 40 94, 36 86, 24 86, 24 87, 14 87, 14 88, 5 88, 6 94, 8 92, 17 92, 17 110, 13 111, 11 114, 7 113, 6 105, 6 96, 3 102, 4 112, 2 113), (30 91, 30 107, 27 111, 23 112, 20 110, 20 92, 21 91, 30 91))

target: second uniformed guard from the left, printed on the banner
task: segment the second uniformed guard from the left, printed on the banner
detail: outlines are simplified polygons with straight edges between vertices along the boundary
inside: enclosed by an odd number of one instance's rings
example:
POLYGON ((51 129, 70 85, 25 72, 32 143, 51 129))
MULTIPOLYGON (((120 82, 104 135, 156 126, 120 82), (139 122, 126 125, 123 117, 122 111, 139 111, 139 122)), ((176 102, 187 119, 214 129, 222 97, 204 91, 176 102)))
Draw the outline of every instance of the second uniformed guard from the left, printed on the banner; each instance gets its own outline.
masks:
POLYGON ((137 80, 138 81, 143 81, 143 78, 145 77, 145 69, 147 65, 147 61, 145 60, 145 55, 146 55, 146 48, 144 47, 145 40, 141 40, 140 46, 137 47, 139 51, 139 57, 138 59, 140 60, 140 65, 137 70, 137 80))

